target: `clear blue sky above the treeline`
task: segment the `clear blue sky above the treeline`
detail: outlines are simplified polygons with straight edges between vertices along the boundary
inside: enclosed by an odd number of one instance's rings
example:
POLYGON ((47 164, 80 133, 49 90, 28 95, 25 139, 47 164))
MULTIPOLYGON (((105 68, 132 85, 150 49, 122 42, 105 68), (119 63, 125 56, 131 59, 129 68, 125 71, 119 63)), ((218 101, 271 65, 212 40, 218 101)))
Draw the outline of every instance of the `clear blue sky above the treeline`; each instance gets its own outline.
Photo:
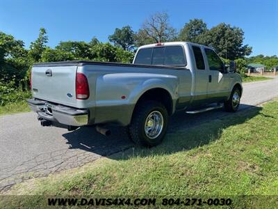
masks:
POLYGON ((166 12, 170 24, 181 29, 198 18, 208 29, 221 22, 245 32, 252 56, 278 54, 278 0, 0 0, 0 31, 23 40, 26 47, 47 29, 49 47, 60 41, 108 41, 115 28, 140 29, 147 17, 166 12))

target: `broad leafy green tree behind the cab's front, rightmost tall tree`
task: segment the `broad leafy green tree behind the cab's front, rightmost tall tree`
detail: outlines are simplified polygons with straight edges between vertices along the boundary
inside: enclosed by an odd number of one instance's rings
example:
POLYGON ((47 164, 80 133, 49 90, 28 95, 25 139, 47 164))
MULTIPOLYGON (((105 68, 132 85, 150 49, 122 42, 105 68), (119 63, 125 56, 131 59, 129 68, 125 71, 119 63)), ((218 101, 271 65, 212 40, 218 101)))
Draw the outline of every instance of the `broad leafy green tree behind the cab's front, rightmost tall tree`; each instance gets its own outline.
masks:
POLYGON ((242 29, 224 23, 218 24, 198 36, 200 44, 213 47, 219 56, 231 60, 251 54, 252 47, 243 45, 243 39, 242 29))

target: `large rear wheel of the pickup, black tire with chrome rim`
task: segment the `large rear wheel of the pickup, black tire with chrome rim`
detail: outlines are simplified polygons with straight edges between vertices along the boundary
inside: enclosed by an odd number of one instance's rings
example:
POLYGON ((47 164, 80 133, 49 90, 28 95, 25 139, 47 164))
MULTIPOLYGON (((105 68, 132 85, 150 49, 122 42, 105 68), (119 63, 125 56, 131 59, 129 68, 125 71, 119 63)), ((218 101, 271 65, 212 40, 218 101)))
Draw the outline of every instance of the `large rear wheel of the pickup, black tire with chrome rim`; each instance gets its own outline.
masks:
POLYGON ((131 139, 141 146, 161 143, 168 125, 167 109, 160 102, 146 101, 138 104, 129 126, 131 139))

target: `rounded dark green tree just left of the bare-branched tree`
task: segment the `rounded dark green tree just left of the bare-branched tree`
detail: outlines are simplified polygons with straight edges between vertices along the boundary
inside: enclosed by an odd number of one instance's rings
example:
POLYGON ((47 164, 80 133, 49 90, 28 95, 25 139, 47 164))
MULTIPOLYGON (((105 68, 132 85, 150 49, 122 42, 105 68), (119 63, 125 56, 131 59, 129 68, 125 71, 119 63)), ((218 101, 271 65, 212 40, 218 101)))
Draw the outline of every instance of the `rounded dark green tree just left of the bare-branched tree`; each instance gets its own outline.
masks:
POLYGON ((131 29, 131 26, 115 29, 115 32, 108 38, 115 46, 122 47, 124 50, 131 50, 134 47, 134 31, 131 29))

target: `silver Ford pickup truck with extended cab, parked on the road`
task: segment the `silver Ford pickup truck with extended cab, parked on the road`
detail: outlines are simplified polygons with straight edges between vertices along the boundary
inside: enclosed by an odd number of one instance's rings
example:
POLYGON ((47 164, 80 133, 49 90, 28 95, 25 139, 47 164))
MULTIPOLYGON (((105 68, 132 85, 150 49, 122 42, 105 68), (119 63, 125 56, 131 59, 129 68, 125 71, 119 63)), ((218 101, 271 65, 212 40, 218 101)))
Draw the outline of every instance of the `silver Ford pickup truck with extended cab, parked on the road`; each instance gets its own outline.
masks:
POLYGON ((33 99, 42 125, 68 130, 105 124, 127 127, 131 139, 155 146, 169 117, 220 108, 236 111, 243 93, 236 65, 229 66, 211 47, 165 42, 139 47, 132 64, 92 61, 37 63, 31 71, 33 99), (208 104, 215 105, 208 107, 208 104))

